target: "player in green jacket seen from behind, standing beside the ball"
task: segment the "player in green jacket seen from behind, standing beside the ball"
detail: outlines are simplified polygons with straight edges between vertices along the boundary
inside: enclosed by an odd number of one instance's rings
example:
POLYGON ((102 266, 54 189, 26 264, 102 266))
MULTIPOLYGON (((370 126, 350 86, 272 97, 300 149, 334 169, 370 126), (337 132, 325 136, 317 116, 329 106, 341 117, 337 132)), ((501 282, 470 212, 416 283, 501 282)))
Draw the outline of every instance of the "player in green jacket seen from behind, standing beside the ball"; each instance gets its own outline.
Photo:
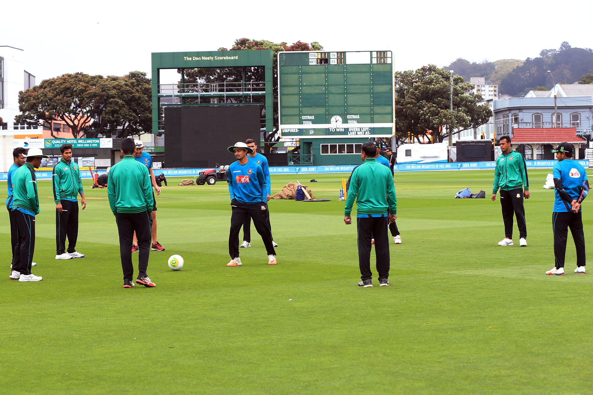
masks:
POLYGON ((132 237, 138 237, 138 278, 136 283, 146 287, 155 286, 148 278, 152 208, 151 177, 148 168, 135 160, 136 144, 132 139, 123 139, 121 161, 113 165, 107 180, 107 197, 113 215, 116 216, 119 232, 119 253, 122 259, 123 288, 132 288, 134 266, 132 265, 132 237))

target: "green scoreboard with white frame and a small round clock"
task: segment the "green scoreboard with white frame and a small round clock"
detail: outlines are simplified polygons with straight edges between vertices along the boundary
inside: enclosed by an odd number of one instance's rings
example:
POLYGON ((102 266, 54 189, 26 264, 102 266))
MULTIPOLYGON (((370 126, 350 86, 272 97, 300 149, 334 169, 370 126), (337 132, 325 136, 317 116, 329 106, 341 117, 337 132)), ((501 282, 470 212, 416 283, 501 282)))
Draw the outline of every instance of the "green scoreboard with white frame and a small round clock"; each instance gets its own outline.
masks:
POLYGON ((391 51, 280 52, 282 138, 391 137, 391 51))

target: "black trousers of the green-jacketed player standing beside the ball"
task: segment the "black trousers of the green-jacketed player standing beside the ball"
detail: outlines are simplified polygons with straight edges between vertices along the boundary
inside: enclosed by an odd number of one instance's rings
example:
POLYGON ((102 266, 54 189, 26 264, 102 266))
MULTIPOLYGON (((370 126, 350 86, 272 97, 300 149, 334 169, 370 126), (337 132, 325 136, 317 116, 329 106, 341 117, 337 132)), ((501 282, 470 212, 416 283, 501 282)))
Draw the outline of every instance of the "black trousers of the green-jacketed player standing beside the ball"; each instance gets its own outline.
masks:
POLYGON ((123 280, 132 281, 134 275, 134 266, 132 264, 132 238, 134 232, 136 232, 136 238, 138 238, 138 278, 146 276, 150 254, 151 212, 118 212, 115 220, 119 232, 119 254, 122 259, 123 280))

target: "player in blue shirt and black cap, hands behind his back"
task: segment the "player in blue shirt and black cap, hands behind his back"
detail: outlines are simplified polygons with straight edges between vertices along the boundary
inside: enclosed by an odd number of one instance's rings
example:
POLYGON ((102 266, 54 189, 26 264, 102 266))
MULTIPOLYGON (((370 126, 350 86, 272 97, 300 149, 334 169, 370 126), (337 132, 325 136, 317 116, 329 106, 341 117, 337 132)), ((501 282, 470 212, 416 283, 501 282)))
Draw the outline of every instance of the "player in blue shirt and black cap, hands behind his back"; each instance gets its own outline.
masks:
POLYGON ((552 229, 554 231, 554 267, 547 275, 564 275, 564 258, 566 254, 566 236, 568 228, 575 241, 576 269, 575 273, 585 273, 585 234, 581 203, 589 192, 589 181, 585 168, 572 160, 574 148, 564 142, 552 149, 558 162, 554 164, 554 212, 552 213, 552 229))

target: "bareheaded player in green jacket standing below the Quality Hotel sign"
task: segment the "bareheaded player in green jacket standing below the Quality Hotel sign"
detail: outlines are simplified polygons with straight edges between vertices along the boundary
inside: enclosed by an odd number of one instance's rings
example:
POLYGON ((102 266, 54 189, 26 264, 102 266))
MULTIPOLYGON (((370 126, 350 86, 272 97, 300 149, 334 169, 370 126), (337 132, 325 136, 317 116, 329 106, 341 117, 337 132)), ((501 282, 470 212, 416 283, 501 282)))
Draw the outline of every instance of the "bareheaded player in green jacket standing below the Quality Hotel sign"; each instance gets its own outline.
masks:
POLYGON ((72 144, 62 145, 60 152, 62 159, 53 167, 52 174, 53 200, 56 203, 56 259, 84 258, 84 254, 76 251, 79 193, 82 209, 87 207, 80 169, 72 161, 72 144))

